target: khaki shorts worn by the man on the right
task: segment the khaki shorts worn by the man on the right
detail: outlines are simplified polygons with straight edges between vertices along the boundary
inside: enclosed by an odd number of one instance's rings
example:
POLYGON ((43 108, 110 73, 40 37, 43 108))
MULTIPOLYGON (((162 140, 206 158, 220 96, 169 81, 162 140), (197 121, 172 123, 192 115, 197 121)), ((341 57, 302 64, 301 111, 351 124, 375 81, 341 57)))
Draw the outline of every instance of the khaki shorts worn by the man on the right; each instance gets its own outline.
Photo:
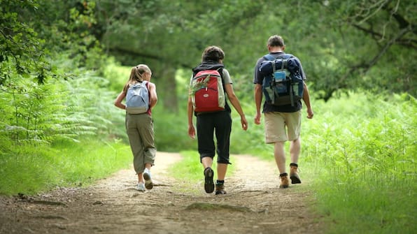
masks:
POLYGON ((265 142, 297 140, 301 131, 301 110, 297 112, 266 112, 265 142))

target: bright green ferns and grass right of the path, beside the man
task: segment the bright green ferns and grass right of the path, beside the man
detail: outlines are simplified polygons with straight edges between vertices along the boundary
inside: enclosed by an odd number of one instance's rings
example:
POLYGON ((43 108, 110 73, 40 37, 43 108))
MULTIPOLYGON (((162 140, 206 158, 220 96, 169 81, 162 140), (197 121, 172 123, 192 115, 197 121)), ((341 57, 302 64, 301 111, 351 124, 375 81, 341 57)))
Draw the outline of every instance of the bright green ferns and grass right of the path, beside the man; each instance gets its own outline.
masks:
POLYGON ((327 233, 412 233, 417 215, 416 100, 351 94, 315 102, 302 127, 327 233))

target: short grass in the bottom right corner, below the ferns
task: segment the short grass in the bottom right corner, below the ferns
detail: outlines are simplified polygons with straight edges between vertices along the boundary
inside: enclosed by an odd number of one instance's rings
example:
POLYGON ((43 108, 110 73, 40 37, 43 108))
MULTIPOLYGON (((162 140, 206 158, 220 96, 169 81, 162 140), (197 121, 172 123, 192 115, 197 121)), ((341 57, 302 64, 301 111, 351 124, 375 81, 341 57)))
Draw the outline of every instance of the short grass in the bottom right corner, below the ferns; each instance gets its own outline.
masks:
POLYGON ((416 230, 416 184, 380 174, 340 180, 323 173, 312 188, 326 233, 388 234, 416 230))

